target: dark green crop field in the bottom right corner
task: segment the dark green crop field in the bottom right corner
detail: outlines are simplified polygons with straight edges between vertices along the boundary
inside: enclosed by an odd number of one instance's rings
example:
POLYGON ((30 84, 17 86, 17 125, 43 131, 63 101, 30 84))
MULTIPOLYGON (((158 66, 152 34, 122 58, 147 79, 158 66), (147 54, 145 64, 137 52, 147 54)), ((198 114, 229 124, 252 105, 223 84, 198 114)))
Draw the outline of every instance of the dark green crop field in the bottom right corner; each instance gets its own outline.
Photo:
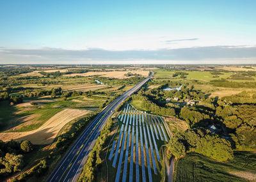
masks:
POLYGON ((175 169, 174 181, 248 181, 231 174, 232 171, 255 173, 255 153, 235 151, 230 162, 218 162, 197 153, 189 153, 181 158, 175 169), (248 158, 250 156, 250 158, 248 158))

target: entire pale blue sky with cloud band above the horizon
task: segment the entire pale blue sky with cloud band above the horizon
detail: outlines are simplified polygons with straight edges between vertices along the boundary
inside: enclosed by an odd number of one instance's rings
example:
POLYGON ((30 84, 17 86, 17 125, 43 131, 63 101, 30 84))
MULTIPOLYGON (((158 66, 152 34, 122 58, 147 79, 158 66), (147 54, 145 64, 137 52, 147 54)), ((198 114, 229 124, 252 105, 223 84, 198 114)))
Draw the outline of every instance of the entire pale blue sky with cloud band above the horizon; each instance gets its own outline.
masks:
POLYGON ((0 64, 256 63, 255 0, 0 3, 0 64))

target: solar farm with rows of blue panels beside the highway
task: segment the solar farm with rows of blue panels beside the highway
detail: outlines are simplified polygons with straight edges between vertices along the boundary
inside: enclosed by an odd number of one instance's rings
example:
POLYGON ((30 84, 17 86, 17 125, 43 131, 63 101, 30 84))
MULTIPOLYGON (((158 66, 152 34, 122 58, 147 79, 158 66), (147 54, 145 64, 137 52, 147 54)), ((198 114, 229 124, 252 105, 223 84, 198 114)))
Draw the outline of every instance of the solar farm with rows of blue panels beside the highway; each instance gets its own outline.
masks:
POLYGON ((169 140, 162 118, 128 104, 118 121, 118 132, 109 145, 109 179, 160 181, 165 174, 161 146, 169 140))

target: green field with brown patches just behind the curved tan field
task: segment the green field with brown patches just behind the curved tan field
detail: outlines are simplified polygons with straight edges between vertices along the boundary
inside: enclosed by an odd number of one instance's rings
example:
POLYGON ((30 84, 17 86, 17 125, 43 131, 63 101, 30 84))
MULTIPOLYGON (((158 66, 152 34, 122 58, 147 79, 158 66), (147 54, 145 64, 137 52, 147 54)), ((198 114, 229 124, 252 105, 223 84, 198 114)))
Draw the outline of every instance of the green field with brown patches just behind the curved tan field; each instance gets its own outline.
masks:
POLYGON ((8 130, 6 132, 28 132, 35 130, 50 119, 52 116, 57 114, 63 109, 86 109, 86 110, 98 110, 99 107, 106 101, 107 98, 91 97, 84 98, 84 96, 73 96, 67 100, 62 98, 25 98, 24 102, 35 102, 38 105, 30 105, 28 107, 13 107, 10 106, 9 102, 0 102, 0 123, 1 132, 14 126, 19 126, 15 130, 8 130), (44 100, 44 102, 40 102, 44 100), (49 102, 47 102, 49 100, 49 102), (19 118, 36 115, 33 119, 33 123, 29 125, 22 124, 19 118))

